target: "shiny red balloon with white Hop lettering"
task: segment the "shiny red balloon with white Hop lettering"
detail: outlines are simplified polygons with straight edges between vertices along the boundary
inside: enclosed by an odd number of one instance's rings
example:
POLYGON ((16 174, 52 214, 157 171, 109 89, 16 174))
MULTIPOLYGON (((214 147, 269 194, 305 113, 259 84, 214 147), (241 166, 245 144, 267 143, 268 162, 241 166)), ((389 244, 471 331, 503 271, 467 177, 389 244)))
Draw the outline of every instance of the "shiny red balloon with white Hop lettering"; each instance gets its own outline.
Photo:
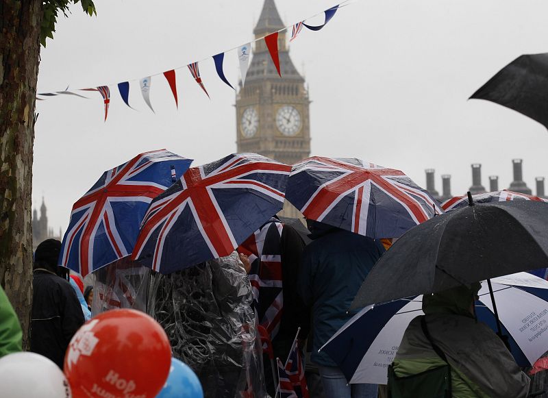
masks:
POLYGON ((153 398, 170 366, 166 332, 136 310, 95 316, 78 329, 64 358, 74 398, 153 398))

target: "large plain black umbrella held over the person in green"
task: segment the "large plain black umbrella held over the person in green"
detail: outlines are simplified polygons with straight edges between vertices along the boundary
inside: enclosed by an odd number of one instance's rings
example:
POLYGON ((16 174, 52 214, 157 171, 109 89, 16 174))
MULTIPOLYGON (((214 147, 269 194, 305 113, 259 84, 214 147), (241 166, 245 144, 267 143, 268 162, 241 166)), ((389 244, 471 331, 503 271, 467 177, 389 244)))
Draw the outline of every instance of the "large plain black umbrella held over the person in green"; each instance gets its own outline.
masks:
POLYGON ((384 253, 351 308, 548 266, 548 206, 480 203, 410 229, 384 253))

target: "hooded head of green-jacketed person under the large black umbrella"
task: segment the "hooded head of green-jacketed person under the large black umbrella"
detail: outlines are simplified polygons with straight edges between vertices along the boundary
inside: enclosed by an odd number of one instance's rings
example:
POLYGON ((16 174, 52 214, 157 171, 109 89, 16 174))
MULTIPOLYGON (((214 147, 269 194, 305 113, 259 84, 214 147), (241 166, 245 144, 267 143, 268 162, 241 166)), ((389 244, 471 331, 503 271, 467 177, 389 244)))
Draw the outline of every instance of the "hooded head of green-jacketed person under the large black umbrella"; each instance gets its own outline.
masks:
POLYGON ((474 282, 471 285, 461 285, 432 295, 424 295, 423 312, 425 314, 456 314, 475 318, 474 303, 481 287, 482 284, 474 282))

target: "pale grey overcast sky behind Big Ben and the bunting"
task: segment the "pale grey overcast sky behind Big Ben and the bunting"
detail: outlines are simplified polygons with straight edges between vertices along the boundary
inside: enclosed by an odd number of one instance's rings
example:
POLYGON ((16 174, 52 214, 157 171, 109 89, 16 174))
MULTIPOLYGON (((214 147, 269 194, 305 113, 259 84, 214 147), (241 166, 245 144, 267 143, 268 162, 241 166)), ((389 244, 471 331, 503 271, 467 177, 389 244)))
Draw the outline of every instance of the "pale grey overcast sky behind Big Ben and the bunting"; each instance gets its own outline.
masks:
MULTIPOLYGON (((33 204, 45 196, 49 224, 66 229, 73 203, 97 178, 136 154, 166 148, 194 165, 236 151, 235 95, 201 62, 211 100, 188 69, 177 71, 179 110, 163 77, 153 79, 153 114, 132 82, 131 110, 118 82, 140 79, 243 44, 262 0, 95 0, 97 17, 77 6, 60 16, 55 40, 42 49, 38 92, 110 84, 103 123, 98 92, 90 99, 37 101, 33 204)), ((290 25, 334 1, 276 0, 290 25)), ((548 132, 527 117, 487 101, 466 99, 523 53, 548 51, 545 0, 358 0, 321 32, 303 29, 290 55, 310 86, 312 155, 356 157, 401 169, 425 186, 424 169, 451 174, 453 195, 482 182, 512 181, 512 158, 523 176, 548 177, 548 132)), ((316 19, 312 22, 321 23, 316 19)), ((238 62, 225 55, 236 84, 238 62)))

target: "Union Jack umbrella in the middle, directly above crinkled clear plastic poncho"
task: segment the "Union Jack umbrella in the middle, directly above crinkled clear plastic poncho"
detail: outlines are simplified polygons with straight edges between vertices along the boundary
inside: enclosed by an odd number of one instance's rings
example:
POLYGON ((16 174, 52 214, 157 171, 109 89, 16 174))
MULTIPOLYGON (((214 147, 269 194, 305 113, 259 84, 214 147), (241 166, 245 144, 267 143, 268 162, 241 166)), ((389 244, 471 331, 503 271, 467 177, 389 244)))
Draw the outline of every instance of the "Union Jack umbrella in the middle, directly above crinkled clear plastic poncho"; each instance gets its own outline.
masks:
POLYGON ((290 169, 256 153, 189 169, 152 201, 132 257, 171 273, 229 255, 282 210, 290 169))

